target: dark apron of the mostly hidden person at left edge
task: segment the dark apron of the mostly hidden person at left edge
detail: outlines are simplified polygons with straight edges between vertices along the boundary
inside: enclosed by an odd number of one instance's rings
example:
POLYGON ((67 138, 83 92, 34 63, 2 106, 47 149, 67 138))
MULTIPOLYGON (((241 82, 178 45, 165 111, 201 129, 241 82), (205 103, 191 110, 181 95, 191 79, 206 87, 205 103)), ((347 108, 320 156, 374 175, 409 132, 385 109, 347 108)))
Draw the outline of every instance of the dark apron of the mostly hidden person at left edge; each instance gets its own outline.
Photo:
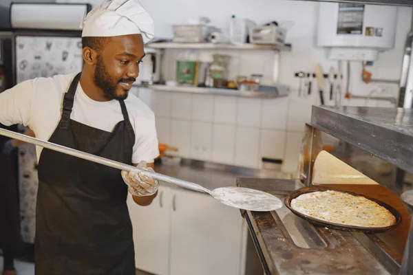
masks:
MULTIPOLYGON (((17 125, 0 128, 17 131, 17 125)), ((23 250, 21 238, 17 149, 3 154, 3 146, 10 140, 0 135, 0 248, 14 255, 23 250)))

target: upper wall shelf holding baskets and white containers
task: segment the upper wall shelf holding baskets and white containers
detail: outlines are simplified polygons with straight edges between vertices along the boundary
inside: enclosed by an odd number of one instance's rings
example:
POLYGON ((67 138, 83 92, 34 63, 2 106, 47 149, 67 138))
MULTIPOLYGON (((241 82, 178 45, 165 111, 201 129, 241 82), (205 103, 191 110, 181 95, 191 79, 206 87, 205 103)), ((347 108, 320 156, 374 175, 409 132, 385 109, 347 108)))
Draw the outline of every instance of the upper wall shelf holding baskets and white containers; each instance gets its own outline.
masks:
POLYGON ((257 44, 213 44, 213 43, 149 43, 152 49, 193 49, 193 50, 277 50, 290 51, 290 45, 257 45, 257 44))

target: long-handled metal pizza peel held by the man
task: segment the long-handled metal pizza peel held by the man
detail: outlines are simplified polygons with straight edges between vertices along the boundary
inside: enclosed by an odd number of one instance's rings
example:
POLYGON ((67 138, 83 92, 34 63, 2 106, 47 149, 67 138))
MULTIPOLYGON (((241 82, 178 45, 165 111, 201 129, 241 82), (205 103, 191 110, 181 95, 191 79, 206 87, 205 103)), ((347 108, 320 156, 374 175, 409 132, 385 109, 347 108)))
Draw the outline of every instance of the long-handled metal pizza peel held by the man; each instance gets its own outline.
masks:
POLYGON ((169 184, 175 184, 182 188, 189 190, 204 192, 211 195, 217 201, 226 204, 227 206, 232 206, 234 208, 239 208, 243 210, 251 211, 272 211, 277 210, 283 206, 283 203, 277 197, 269 194, 268 192, 263 192, 260 190, 255 190, 251 188, 242 188, 242 187, 222 187, 209 190, 195 184, 191 181, 184 181, 182 179, 176 179, 175 177, 169 177, 167 175, 162 175, 160 173, 151 172, 141 168, 137 168, 132 165, 123 164, 121 162, 116 162, 112 159, 107 159, 105 157, 99 157, 97 155, 92 155, 82 151, 75 150, 73 148, 68 148, 61 146, 59 144, 54 144, 52 142, 45 142, 44 140, 39 140, 28 135, 23 135, 21 133, 15 133, 13 131, 8 131, 6 129, 0 129, 0 135, 10 137, 16 140, 21 140, 30 144, 41 146, 59 153, 64 153, 66 155, 72 155, 73 157, 79 157, 91 162, 98 164, 103 164, 112 168, 125 171, 136 171, 143 172, 146 175, 149 175, 153 179, 158 179, 158 181, 164 181, 169 184))

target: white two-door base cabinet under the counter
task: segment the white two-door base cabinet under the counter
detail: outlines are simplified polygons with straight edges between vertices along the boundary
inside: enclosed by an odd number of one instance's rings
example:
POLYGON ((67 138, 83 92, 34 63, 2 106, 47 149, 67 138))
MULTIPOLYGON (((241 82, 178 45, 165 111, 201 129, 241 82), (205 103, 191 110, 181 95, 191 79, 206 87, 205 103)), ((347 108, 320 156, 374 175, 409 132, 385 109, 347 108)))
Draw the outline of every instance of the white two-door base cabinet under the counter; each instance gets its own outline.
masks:
POLYGON ((128 197, 136 268, 158 275, 243 275, 247 230, 239 210, 162 185, 151 206, 128 197))

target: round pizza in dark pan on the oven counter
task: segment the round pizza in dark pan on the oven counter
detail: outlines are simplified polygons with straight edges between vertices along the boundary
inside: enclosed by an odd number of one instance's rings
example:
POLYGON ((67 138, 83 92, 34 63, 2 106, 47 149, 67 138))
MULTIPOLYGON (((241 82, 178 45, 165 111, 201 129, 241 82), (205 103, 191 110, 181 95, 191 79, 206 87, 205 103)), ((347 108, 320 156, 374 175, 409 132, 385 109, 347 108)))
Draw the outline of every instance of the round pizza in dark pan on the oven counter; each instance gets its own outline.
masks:
POLYGON ((291 200, 291 208, 330 223, 383 228, 396 223, 394 215, 377 202, 335 190, 309 192, 291 200))

